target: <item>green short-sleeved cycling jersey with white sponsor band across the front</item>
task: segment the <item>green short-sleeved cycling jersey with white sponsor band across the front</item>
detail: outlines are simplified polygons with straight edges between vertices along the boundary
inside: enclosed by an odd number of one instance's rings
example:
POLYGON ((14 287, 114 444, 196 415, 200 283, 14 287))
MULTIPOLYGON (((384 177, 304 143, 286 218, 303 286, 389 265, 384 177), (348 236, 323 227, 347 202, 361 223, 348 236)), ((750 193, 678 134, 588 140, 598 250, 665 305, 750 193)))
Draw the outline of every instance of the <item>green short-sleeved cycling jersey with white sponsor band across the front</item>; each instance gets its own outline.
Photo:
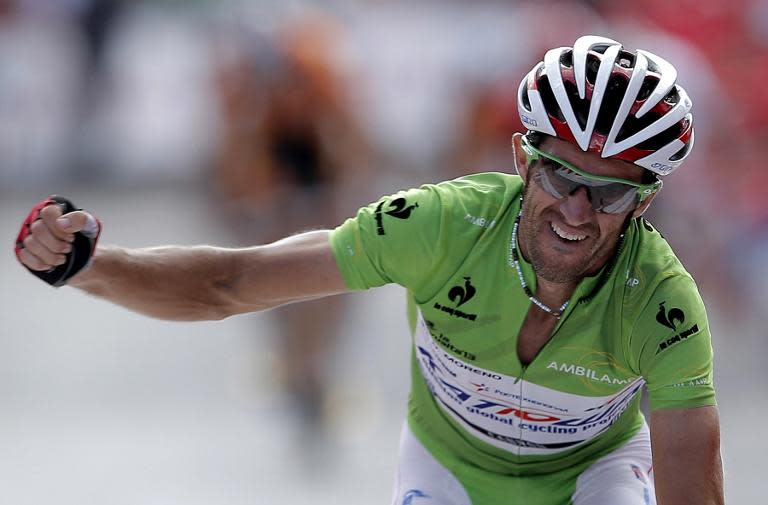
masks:
MULTIPOLYGON (((704 304, 642 218, 579 283, 536 358, 520 362, 531 304, 512 259, 522 187, 501 173, 425 185, 361 209, 331 234, 350 289, 407 288, 408 422, 459 476, 577 471, 638 431, 644 386, 652 410, 715 404, 704 304)), ((519 260, 535 291, 531 265, 519 260)))

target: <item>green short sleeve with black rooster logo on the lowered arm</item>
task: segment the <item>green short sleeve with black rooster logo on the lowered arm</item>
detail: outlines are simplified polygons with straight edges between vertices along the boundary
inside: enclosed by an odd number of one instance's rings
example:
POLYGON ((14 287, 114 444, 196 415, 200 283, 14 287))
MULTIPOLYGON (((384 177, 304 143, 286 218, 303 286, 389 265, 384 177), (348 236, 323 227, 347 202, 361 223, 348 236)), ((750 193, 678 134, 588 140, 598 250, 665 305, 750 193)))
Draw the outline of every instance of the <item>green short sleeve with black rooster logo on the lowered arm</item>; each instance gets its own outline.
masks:
POLYGON ((715 405, 706 309, 693 279, 662 281, 632 334, 651 410, 715 405))

